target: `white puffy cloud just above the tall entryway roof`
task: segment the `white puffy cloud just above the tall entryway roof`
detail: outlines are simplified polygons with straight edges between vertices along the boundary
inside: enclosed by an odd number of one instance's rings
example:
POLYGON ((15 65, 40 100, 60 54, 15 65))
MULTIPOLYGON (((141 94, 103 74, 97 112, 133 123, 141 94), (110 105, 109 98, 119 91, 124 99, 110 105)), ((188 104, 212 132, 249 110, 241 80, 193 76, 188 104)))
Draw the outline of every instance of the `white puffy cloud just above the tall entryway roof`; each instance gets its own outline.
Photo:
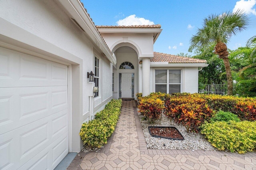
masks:
POLYGON ((136 17, 136 15, 130 15, 122 20, 118 20, 117 25, 154 25, 153 21, 146 20, 145 18, 136 17))

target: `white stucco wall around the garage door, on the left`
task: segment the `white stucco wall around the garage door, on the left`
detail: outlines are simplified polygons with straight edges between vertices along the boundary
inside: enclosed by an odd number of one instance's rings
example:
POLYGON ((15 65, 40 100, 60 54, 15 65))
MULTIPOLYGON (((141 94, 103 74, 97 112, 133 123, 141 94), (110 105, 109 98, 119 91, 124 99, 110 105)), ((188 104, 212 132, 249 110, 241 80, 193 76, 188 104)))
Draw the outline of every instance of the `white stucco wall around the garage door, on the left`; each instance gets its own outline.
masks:
MULTIPOLYGON (((61 1, 60 1, 61 2, 61 1)), ((69 103, 76 107, 69 119, 72 125, 72 148, 79 152, 82 147, 78 135, 82 122, 89 120, 89 96, 93 96, 93 84, 88 82, 87 72, 94 72, 94 54, 101 59, 100 92, 101 98, 93 108, 99 111, 112 98, 112 65, 102 55, 102 48, 95 45, 76 23, 71 14, 58 0, 1 0, 0 2, 0 41, 10 46, 43 57, 50 61, 69 65, 69 103), (4 25, 4 26, 3 26, 4 25), (26 48, 25 48, 26 47, 26 48), (72 96, 76 96, 75 100, 72 96), (73 127, 75 126, 75 127, 73 127), (73 140, 74 139, 74 140, 73 140)), ((63 2, 63 1, 62 1, 63 2)), ((79 1, 76 7, 80 7, 79 1)), ((90 33, 91 34, 91 33, 90 33)), ((93 40, 96 41, 96 40, 93 40)), ((69 127, 71 130, 71 127, 69 127)), ((71 138, 70 138, 71 141, 71 138)))

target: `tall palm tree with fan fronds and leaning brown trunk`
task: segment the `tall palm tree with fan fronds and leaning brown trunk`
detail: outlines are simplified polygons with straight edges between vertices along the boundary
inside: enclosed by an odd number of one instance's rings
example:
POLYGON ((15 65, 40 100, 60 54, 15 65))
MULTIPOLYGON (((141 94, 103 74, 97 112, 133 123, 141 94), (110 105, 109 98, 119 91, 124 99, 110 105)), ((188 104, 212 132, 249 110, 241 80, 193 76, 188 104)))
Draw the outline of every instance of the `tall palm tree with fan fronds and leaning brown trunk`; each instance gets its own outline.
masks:
POLYGON ((193 35, 190 40, 190 52, 197 46, 207 45, 210 42, 215 43, 214 53, 224 61, 228 81, 228 95, 233 94, 233 80, 226 43, 232 35, 236 35, 236 33, 246 29, 248 24, 249 18, 242 11, 210 15, 204 19, 203 28, 198 29, 196 35, 193 35))

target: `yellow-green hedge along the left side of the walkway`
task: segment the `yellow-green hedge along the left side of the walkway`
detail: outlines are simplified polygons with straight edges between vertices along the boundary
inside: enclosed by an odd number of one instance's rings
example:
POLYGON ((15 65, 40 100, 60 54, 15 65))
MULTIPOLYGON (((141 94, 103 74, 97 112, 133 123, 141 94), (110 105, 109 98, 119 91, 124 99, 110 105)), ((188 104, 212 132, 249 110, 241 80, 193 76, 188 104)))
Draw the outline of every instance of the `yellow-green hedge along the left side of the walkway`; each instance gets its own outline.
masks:
POLYGON ((83 123, 80 137, 84 145, 101 148, 114 132, 121 112, 122 100, 111 100, 105 108, 95 115, 95 119, 83 123))

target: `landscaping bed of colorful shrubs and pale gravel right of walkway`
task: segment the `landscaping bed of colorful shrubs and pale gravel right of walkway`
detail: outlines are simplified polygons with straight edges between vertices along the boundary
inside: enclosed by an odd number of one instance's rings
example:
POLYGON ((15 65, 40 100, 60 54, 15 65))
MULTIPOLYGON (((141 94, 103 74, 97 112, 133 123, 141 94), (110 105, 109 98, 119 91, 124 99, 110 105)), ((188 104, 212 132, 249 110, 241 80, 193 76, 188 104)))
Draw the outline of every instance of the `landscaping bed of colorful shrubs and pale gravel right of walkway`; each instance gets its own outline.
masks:
POLYGON ((204 147, 207 139, 218 150, 238 153, 256 150, 255 98, 158 92, 138 100, 148 149, 211 150, 209 146, 204 147), (148 135, 148 126, 169 124, 182 133, 183 143, 163 141, 148 135), (199 139, 202 139, 202 145, 199 139))

